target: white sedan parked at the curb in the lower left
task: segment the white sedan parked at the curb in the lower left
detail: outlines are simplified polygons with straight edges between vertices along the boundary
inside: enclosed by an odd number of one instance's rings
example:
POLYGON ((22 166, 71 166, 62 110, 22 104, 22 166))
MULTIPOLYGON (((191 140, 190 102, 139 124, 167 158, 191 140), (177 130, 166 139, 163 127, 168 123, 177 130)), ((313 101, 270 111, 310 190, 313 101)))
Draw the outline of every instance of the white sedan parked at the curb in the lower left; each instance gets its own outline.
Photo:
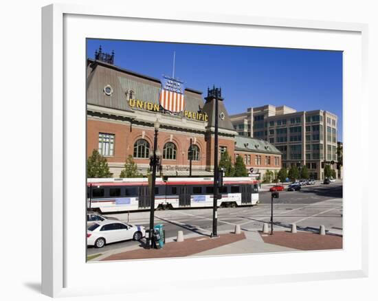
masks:
POLYGON ((133 239, 139 241, 146 235, 146 229, 140 225, 131 225, 120 221, 100 221, 88 226, 87 245, 104 247, 107 243, 133 239))

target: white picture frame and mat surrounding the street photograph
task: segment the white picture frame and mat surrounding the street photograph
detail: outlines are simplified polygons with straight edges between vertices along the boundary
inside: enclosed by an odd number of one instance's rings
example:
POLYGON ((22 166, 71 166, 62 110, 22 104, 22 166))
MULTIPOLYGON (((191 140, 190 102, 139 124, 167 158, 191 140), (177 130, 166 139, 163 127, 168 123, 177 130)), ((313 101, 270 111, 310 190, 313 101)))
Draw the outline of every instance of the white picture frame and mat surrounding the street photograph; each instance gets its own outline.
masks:
MULTIPOLYGON (((367 25, 164 9, 159 12, 146 8, 132 11, 110 5, 96 8, 54 4, 43 8, 42 17, 42 293, 65 297, 130 293, 141 289, 151 293, 155 291, 133 281, 128 282, 130 287, 125 287, 122 281, 114 279, 103 287, 95 284, 94 291, 93 286, 85 281, 86 276, 93 273, 94 265, 102 265, 102 269, 112 271, 114 275, 127 267, 135 272, 135 277, 141 277, 142 271, 153 264, 156 269, 164 270, 165 281, 170 280, 168 287, 181 286, 175 275, 169 276, 175 268, 181 267, 187 271, 182 280, 199 289, 367 276, 368 236, 363 230, 368 225, 368 198, 367 192, 353 191, 353 173, 366 170, 366 164, 359 166, 353 157, 367 157, 368 151, 368 146, 363 150, 353 146, 354 142, 368 143, 367 133, 362 131, 368 127, 368 119, 362 115, 362 107, 368 103, 367 25), (120 26, 124 25, 132 30, 122 32, 120 26), (153 28, 160 34, 153 32, 153 28), (168 32, 167 28, 172 30, 168 32), (186 36, 180 37, 181 30, 189 31, 186 36), (252 36, 254 41, 250 41, 252 36), (82 85, 85 83, 85 37, 343 51, 343 132, 348 133, 343 140, 346 166, 344 249, 86 264, 82 255, 85 254, 85 85, 82 85), (360 106, 352 109, 356 100, 360 106), (348 121, 354 117, 359 122, 352 126, 348 121), (82 204, 73 202, 74 197, 81 194, 82 204), (304 264, 309 258, 315 261, 313 265, 304 264), (268 262, 270 266, 264 266, 268 262), (222 269, 219 269, 220 263, 222 269), (210 271, 196 275, 195 269, 204 265, 210 271), (249 265, 254 268, 241 269, 249 265), (282 278, 282 275, 290 277, 282 278)), ((158 285, 159 280, 156 283, 158 285)))

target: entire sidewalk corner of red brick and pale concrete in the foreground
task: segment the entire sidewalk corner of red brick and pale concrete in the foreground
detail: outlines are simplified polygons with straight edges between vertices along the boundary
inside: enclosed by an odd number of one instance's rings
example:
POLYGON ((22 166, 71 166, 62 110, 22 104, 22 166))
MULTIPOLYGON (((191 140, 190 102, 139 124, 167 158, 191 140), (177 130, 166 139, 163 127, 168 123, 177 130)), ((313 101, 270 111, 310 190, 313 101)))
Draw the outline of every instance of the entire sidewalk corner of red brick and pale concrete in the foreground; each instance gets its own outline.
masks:
MULTIPOLYGON (((174 258, 185 256, 216 256, 234 254, 256 254, 268 252, 293 252, 299 250, 342 249, 342 237, 335 235, 302 232, 293 234, 285 230, 273 235, 260 231, 245 231, 241 234, 223 233, 210 238, 190 235, 177 243, 167 239, 162 249, 144 249, 144 243, 133 248, 117 250, 113 254, 103 254, 95 260, 135 260, 146 258, 174 258)), ((95 261, 93 260, 93 261, 95 261)))

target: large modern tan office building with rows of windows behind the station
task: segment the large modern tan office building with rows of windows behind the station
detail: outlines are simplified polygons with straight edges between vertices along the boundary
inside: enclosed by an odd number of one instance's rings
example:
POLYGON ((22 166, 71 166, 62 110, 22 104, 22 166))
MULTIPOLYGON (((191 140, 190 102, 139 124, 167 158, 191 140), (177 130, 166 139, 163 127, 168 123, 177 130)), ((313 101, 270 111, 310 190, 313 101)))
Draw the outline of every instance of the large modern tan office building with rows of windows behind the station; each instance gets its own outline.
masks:
POLYGON ((337 115, 329 111, 297 112, 267 104, 230 115, 230 120, 238 135, 274 144, 283 167, 307 166, 314 179, 324 179, 324 164, 337 169, 337 115))

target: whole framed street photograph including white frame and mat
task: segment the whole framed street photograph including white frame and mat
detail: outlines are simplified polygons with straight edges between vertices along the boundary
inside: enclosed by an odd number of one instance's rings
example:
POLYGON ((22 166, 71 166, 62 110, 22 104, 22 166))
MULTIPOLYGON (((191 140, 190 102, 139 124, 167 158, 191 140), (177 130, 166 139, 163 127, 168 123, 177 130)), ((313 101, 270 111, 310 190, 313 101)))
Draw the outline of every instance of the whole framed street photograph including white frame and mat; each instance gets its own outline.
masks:
POLYGON ((366 25, 49 5, 42 34, 44 294, 367 276, 366 25))

